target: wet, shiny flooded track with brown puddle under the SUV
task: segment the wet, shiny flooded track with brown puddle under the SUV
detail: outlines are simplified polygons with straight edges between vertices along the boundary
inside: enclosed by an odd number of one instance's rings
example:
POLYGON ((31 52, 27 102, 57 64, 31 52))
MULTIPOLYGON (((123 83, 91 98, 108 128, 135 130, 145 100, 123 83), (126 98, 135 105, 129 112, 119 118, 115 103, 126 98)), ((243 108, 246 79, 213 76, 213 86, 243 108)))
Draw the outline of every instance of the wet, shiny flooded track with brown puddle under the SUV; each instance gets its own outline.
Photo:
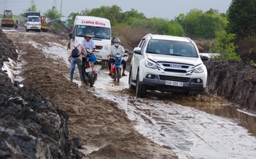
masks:
POLYGON ((255 158, 255 115, 215 96, 150 91, 138 99, 128 89, 128 76, 117 83, 107 73, 98 67, 98 81, 89 90, 117 102, 137 131, 179 158, 255 158))

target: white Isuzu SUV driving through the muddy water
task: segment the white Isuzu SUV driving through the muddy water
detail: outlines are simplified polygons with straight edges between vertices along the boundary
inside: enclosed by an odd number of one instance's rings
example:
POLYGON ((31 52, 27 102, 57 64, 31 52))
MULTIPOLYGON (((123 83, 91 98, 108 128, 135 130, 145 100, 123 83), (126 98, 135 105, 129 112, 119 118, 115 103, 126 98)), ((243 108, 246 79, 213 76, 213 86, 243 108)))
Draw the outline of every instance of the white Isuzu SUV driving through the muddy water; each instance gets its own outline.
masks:
POLYGON ((129 88, 136 97, 147 90, 198 94, 206 88, 207 59, 190 38, 147 34, 133 49, 129 88))

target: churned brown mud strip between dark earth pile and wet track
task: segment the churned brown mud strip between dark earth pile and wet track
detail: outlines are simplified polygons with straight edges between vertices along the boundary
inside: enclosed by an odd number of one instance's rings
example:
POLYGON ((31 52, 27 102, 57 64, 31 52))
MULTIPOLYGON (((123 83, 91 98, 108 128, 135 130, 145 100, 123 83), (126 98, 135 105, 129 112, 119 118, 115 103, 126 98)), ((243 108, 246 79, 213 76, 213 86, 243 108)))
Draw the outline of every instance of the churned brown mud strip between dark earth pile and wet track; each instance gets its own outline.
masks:
POLYGON ((21 83, 37 89, 55 107, 69 114, 70 137, 82 138, 82 151, 88 158, 177 158, 170 148, 161 147, 135 131, 116 103, 69 82, 66 62, 47 58, 43 53, 43 48, 53 41, 63 44, 58 36, 17 32, 7 36, 18 46, 20 60, 26 61, 22 66, 25 80, 21 83))

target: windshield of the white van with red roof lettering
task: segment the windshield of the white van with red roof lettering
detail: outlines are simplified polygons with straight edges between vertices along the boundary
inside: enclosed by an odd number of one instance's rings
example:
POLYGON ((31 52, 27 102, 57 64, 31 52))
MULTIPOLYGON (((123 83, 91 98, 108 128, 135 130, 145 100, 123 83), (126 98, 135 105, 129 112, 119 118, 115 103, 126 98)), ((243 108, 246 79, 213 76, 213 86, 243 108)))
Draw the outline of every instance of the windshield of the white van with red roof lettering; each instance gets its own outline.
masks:
POLYGON ((110 28, 77 25, 76 36, 85 37, 87 33, 92 38, 110 39, 110 28))

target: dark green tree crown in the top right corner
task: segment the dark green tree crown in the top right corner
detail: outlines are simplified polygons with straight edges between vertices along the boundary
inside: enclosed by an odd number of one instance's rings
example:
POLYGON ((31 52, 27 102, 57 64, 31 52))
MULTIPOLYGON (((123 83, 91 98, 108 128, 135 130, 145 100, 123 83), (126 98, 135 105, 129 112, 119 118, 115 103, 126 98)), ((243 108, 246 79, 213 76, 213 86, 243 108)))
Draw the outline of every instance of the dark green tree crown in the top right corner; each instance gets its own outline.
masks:
POLYGON ((255 35, 256 0, 233 0, 228 21, 228 33, 236 33, 237 38, 255 35))

